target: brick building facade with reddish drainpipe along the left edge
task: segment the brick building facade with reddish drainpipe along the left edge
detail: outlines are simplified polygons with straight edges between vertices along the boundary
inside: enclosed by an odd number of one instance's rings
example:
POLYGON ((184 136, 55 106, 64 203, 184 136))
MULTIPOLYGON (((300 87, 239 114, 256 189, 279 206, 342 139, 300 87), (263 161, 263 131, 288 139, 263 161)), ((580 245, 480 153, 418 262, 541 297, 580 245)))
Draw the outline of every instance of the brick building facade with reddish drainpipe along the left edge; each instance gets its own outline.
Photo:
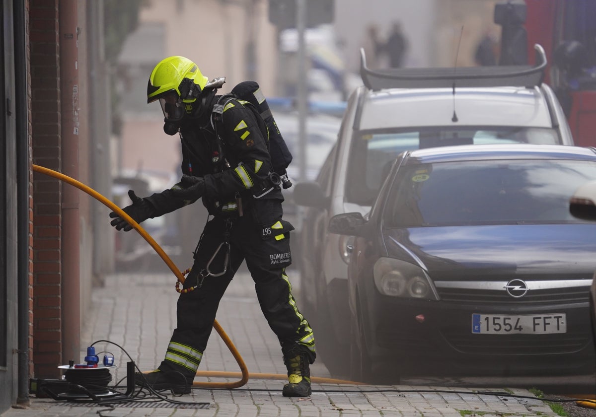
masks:
MULTIPOLYGON (((95 180, 101 158, 91 157, 97 150, 90 146, 92 139, 95 147, 108 143, 97 134, 109 121, 89 111, 90 81, 98 79, 89 64, 101 56, 87 43, 100 32, 92 15, 100 4, 2 3, 0 412, 28 402, 33 376, 57 378, 57 366, 79 360, 92 282, 104 273, 93 266, 102 256, 94 252, 97 205, 35 170, 45 167, 109 191, 95 180)), ((94 104, 106 99, 96 96, 94 104)))

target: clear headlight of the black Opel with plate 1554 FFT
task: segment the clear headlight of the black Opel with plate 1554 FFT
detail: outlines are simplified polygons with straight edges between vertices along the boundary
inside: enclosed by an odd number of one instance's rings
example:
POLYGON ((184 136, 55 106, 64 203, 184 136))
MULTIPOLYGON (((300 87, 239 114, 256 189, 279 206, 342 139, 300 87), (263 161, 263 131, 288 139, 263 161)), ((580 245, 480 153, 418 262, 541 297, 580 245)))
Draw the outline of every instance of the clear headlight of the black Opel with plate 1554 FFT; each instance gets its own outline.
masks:
POLYGON ((426 272, 414 264, 393 258, 380 258, 373 269, 374 283, 383 295, 439 300, 426 272))

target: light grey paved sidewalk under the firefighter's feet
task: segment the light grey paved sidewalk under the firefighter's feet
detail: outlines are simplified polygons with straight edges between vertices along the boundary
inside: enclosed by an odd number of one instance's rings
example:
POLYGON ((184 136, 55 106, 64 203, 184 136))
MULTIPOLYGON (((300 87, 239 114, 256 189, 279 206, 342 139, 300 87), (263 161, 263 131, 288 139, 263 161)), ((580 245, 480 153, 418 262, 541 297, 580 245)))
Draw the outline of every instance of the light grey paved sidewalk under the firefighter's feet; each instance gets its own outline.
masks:
MULTIPOLYGON (((290 273, 290 279, 297 276, 290 273)), ((124 348, 142 370, 154 369, 163 359, 167 343, 176 324, 176 278, 173 274, 113 275, 104 288, 96 288, 86 325, 82 329, 81 357, 86 347, 99 340, 108 340, 124 348)), ((277 338, 263 318, 254 294, 252 279, 238 273, 219 307, 218 322, 234 342, 246 362, 249 372, 285 374, 277 338)), ((315 337, 316 337, 316 328, 315 337)), ((98 352, 109 351, 116 358, 117 368, 110 369, 115 384, 126 376, 128 356, 114 344, 98 342, 98 352)), ((102 356, 100 354, 100 356, 102 356)), ((200 371, 239 372, 238 365, 213 331, 204 353, 200 371)), ((312 376, 330 378, 320 362, 311 367, 312 376)), ((240 378, 200 378, 195 381, 225 382, 240 378)), ((195 389, 193 394, 172 397, 188 402, 188 406, 167 402, 126 403, 115 407, 57 402, 32 398, 26 409, 11 409, 1 417, 33 416, 403 416, 461 417, 483 416, 556 416, 548 404, 534 398, 518 398, 491 392, 533 397, 527 390, 487 388, 457 388, 429 386, 368 386, 348 384, 313 384, 308 399, 288 399, 282 396, 284 382, 275 379, 253 379, 235 390, 195 389), (200 408, 200 403, 209 403, 200 408), (194 404, 194 405, 192 405, 194 404)))

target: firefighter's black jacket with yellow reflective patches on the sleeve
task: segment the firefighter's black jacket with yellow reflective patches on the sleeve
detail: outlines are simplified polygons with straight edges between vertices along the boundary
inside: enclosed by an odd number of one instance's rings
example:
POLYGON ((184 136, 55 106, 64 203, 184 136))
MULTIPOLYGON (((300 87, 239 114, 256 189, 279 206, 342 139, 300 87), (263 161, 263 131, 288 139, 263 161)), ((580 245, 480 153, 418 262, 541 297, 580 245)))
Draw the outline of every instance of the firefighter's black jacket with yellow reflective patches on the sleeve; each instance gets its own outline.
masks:
MULTIPOLYGON (((182 142, 182 173, 204 179, 203 204, 213 216, 252 216, 261 223, 259 214, 279 211, 283 195, 279 186, 260 198, 272 187, 272 172, 265 123, 257 119, 249 103, 240 99, 224 100, 221 120, 212 127, 211 109, 219 97, 213 98, 200 117, 187 117, 180 125, 182 142), (221 139, 218 139, 219 138, 221 139), (279 208, 275 208, 278 206, 279 208)), ((187 188, 179 182, 172 187, 187 188)), ((171 190, 148 198, 156 208, 156 216, 169 213, 194 201, 175 197, 171 190)), ((268 213, 271 218, 272 213, 268 213)))

